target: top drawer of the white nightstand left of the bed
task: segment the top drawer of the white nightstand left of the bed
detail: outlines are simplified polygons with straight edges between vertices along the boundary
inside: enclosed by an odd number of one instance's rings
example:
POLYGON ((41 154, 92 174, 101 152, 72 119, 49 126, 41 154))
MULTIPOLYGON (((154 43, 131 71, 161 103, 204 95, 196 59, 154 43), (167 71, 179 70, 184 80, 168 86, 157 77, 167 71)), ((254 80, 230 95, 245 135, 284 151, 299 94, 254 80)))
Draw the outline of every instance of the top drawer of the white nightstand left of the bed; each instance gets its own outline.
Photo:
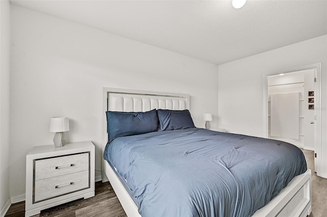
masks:
POLYGON ((35 181, 76 173, 89 168, 89 153, 35 159, 35 181))

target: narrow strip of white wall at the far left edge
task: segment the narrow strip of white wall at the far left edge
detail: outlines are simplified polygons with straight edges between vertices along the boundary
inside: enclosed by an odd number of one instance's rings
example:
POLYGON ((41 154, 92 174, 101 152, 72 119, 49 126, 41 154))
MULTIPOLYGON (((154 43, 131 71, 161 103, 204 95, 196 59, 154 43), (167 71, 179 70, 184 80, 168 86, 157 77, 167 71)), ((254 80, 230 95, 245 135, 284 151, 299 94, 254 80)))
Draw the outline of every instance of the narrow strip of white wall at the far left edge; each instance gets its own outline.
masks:
MULTIPOLYGON (((10 4, 0 1, 0 209, 9 200, 10 4)), ((8 204, 7 204, 8 205, 8 204)))

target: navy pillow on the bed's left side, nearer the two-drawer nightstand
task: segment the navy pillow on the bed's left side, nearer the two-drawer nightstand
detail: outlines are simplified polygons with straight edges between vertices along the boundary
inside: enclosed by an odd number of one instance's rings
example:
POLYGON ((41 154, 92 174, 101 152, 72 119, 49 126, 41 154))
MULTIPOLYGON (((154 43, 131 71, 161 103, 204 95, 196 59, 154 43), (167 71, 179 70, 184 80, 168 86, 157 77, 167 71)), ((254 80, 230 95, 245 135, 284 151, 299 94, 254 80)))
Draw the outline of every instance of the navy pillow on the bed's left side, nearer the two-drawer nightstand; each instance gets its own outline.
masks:
POLYGON ((158 131, 155 110, 149 112, 106 112, 109 143, 118 137, 158 131))

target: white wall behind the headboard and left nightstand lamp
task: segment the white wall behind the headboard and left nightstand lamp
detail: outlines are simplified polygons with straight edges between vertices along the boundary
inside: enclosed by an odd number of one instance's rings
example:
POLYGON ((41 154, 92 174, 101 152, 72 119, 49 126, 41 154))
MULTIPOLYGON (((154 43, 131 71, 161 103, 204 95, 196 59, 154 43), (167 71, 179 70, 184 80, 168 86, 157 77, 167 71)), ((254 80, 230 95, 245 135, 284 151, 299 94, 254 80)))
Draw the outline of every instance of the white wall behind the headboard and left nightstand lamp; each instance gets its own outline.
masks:
POLYGON ((11 9, 11 197, 25 193, 28 151, 53 143, 53 116, 69 117, 69 142, 95 143, 96 169, 101 170, 103 87, 188 93, 196 126, 204 127, 203 113, 217 119, 218 66, 28 9, 11 9))

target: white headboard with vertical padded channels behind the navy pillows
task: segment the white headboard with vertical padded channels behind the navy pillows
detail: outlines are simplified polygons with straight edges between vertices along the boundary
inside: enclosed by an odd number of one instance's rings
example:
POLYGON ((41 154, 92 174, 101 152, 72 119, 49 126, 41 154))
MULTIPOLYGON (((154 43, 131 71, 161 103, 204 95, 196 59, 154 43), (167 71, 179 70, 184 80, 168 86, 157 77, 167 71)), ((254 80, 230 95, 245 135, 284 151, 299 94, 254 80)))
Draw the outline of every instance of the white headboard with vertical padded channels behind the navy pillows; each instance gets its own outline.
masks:
POLYGON ((103 151, 108 141, 107 111, 146 112, 153 109, 189 110, 190 95, 103 88, 103 140, 101 156, 103 156, 103 151))

